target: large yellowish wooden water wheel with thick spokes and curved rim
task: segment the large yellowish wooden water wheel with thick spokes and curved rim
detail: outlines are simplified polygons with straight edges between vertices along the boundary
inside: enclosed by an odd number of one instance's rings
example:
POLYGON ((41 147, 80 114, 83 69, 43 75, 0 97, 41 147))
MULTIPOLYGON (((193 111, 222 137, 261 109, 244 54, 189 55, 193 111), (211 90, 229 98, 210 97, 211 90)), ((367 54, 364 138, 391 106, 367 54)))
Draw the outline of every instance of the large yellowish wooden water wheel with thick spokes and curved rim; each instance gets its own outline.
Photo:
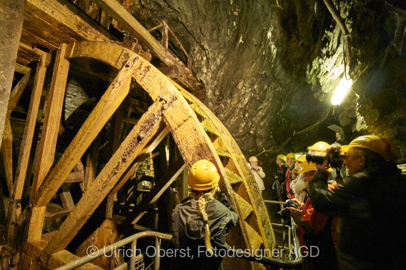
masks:
MULTIPOLYGON (((38 64, 29 111, 38 110, 46 65, 49 61, 43 57, 38 64)), ((197 160, 207 159, 216 165, 221 175, 220 186, 240 216, 238 226, 231 229, 227 236, 227 243, 235 248, 250 250, 275 248, 273 228, 260 191, 245 157, 232 136, 204 104, 138 54, 106 42, 62 44, 56 52, 45 107, 45 118, 26 216, 27 225, 19 263, 20 269, 40 267, 51 269, 65 263, 67 245, 78 234, 91 214, 106 197, 111 198, 123 186, 130 175, 137 170, 138 164, 149 156, 147 154, 151 153, 169 132, 176 142, 181 158, 170 168, 168 175, 163 177, 143 199, 139 208, 127 216, 124 223, 136 223, 145 213, 142 207, 156 201, 156 198, 167 189, 185 166, 190 168, 197 160), (70 61, 78 58, 95 59, 119 71, 53 166, 70 61), (83 166, 78 168, 82 156, 127 96, 131 80, 135 80, 148 93, 152 99, 152 105, 129 131, 94 181, 88 183, 77 204, 71 209, 64 210, 68 211, 65 213, 67 217, 59 229, 43 235, 47 205, 66 179, 71 177, 72 171, 83 174, 83 166)), ((25 137, 32 136, 30 129, 28 120, 25 137)), ((30 148, 30 145, 26 146, 24 137, 21 147, 30 148)), ((86 164, 85 174, 87 167, 88 164, 86 164)), ((19 176, 23 171, 24 169, 17 170, 15 178, 13 189, 15 192, 11 196, 9 210, 11 218, 7 226, 8 238, 13 238, 16 218, 21 212, 18 201, 21 194, 18 193, 21 192, 24 184, 24 175, 19 176)), ((244 269, 263 267, 242 259, 232 260, 233 264, 238 263, 244 269)))

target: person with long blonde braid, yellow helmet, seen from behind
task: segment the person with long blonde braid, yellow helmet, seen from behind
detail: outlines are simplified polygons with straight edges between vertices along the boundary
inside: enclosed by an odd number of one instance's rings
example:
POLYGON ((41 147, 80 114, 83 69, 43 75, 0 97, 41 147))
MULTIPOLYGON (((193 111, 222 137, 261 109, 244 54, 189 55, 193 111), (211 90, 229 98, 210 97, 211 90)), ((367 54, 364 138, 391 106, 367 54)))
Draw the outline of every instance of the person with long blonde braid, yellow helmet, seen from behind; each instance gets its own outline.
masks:
POLYGON ((172 214, 172 243, 180 251, 176 269, 223 269, 223 258, 216 251, 230 248, 225 238, 239 216, 220 190, 219 180, 216 166, 208 160, 199 160, 190 169, 189 197, 172 214))

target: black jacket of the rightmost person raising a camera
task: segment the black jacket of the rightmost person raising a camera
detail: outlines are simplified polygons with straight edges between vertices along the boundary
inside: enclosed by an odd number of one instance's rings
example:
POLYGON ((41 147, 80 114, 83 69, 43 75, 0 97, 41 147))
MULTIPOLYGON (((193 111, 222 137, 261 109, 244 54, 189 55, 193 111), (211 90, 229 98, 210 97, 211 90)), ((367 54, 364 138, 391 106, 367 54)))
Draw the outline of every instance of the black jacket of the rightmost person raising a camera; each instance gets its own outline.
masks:
POLYGON ((405 179, 394 163, 373 173, 356 173, 332 191, 328 173, 318 171, 309 183, 314 209, 339 215, 338 249, 342 267, 353 269, 403 268, 405 179))

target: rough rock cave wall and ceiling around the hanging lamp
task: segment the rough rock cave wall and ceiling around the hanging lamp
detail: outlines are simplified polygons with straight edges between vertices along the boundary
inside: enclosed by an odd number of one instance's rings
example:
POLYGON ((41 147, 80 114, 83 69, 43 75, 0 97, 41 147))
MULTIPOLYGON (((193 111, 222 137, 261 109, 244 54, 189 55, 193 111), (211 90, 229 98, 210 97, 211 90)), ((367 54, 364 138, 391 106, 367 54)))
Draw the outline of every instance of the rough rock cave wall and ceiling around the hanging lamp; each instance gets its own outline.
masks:
POLYGON ((289 137, 282 153, 333 142, 331 124, 343 127, 345 143, 381 134, 406 154, 404 1, 333 1, 350 32, 354 80, 335 108, 330 99, 344 72, 342 35, 321 0, 122 2, 147 29, 165 20, 176 33, 205 85, 206 105, 247 156, 289 137), (324 122, 295 136, 327 112, 324 122))

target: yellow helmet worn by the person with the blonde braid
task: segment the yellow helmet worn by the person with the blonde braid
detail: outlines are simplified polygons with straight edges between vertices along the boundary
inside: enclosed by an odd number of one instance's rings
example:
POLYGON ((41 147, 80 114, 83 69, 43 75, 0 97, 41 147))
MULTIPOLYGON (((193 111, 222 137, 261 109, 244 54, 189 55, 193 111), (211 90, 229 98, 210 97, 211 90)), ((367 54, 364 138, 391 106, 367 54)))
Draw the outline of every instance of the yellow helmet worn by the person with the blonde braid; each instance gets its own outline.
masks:
POLYGON ((199 160, 190 168, 187 184, 194 190, 208 190, 217 185, 220 175, 208 160, 199 160))

